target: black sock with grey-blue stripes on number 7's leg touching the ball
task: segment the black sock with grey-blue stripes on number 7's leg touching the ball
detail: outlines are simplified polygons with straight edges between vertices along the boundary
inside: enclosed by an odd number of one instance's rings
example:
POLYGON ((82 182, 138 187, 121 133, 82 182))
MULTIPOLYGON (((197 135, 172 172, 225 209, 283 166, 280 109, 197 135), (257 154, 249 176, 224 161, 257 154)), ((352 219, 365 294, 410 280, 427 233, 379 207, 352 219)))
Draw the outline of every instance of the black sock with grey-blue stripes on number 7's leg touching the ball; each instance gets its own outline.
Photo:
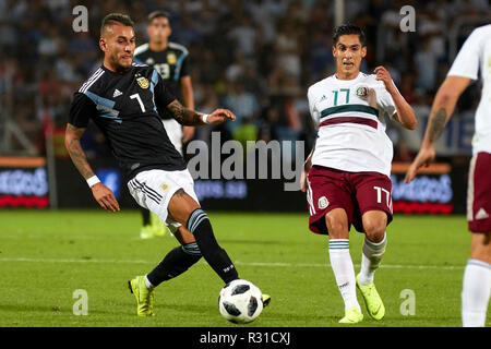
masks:
POLYGON ((193 210, 188 219, 187 228, 194 234, 203 257, 225 284, 239 278, 227 252, 218 245, 208 216, 203 209, 193 210))

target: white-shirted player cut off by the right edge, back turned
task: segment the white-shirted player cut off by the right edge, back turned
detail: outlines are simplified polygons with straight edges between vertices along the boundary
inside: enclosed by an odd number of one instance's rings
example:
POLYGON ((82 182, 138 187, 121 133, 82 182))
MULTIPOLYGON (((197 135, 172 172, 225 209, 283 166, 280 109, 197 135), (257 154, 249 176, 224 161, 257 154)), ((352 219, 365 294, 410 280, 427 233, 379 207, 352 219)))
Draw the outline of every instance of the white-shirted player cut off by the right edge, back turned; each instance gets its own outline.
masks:
POLYGON ((436 93, 421 149, 406 173, 409 183, 419 168, 433 161, 434 142, 470 81, 478 80, 479 70, 483 87, 476 111, 467 189, 471 242, 462 290, 464 327, 484 326, 491 292, 491 24, 476 28, 464 43, 436 93))

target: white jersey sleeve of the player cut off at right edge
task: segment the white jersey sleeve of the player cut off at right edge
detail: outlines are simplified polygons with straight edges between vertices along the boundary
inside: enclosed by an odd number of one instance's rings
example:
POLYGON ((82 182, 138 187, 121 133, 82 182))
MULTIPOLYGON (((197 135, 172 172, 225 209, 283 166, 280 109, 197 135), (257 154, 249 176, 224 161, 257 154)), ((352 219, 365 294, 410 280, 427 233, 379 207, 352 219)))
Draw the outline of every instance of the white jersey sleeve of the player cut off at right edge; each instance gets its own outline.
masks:
POLYGON ((478 79, 479 58, 481 56, 479 38, 479 34, 476 31, 470 34, 455 58, 447 76, 463 76, 471 80, 478 79))

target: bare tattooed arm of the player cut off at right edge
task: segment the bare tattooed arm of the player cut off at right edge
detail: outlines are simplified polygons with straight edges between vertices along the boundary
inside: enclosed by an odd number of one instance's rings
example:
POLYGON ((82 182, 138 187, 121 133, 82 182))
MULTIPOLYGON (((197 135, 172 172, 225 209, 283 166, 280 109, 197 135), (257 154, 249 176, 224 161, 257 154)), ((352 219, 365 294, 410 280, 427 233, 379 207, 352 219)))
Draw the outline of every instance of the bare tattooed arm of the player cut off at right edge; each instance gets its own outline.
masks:
POLYGON ((430 119, 428 120, 421 149, 409 166, 406 173, 406 183, 410 183, 421 167, 428 167, 435 157, 434 143, 440 133, 445 128, 446 122, 454 112, 455 105, 464 89, 470 83, 470 79, 462 76, 447 76, 440 86, 431 107, 430 119))

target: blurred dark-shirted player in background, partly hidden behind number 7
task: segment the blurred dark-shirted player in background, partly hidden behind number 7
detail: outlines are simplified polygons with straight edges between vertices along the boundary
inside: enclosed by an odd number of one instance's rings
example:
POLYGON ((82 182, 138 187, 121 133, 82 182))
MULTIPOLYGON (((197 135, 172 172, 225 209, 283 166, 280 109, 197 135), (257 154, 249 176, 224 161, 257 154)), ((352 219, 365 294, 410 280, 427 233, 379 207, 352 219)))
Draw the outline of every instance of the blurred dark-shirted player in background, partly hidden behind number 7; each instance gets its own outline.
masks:
MULTIPOLYGON (((178 87, 180 86, 183 106, 188 109, 194 109, 189 52, 182 45, 169 41, 169 36, 172 33, 170 15, 165 11, 152 12, 148 15, 146 32, 149 41, 136 47, 133 57, 134 62, 153 67, 176 96, 178 96, 178 87)), ((182 144, 191 141, 194 135, 194 127, 182 127, 167 110, 163 110, 160 117, 170 142, 183 155, 182 144)), ((140 237, 148 239, 154 236, 164 236, 166 230, 160 219, 146 208, 142 207, 141 212, 143 227, 140 230, 140 237)))

